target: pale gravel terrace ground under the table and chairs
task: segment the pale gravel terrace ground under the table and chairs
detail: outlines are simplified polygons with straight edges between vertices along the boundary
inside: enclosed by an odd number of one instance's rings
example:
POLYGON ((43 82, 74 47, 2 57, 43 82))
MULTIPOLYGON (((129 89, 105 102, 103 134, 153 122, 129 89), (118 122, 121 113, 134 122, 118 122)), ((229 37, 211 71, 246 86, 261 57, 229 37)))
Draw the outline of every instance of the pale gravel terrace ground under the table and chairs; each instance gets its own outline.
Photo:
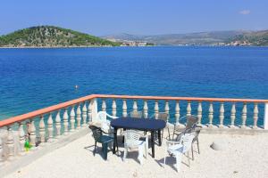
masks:
MULTIPOLYGON (((38 158, 6 177, 268 177, 268 134, 200 134, 200 152, 195 160, 183 157, 180 173, 174 167, 175 158, 167 158, 163 168, 164 145, 155 146, 155 158, 151 150, 144 164, 138 163, 138 151, 132 151, 122 162, 123 150, 117 155, 108 153, 108 160, 96 150, 93 156, 94 140, 85 135, 68 145, 38 158), (226 150, 213 150, 214 141, 226 142, 226 150)), ((195 145, 197 151, 197 145, 195 145)))

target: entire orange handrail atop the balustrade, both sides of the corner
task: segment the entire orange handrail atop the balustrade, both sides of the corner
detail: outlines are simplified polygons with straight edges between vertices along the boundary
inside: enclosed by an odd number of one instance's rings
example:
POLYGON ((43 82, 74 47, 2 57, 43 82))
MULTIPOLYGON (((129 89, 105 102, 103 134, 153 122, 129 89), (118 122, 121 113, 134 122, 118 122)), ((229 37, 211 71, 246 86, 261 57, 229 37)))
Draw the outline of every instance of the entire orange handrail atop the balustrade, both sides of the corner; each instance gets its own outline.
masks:
POLYGON ((58 109, 64 109, 71 105, 75 105, 80 102, 92 100, 95 98, 111 98, 111 99, 132 99, 132 100, 164 100, 164 101, 222 101, 222 102, 257 102, 268 103, 268 100, 258 99, 231 99, 231 98, 198 98, 198 97, 172 97, 172 96, 137 96, 137 95, 113 95, 113 94, 90 94, 79 99, 62 102, 45 109, 38 109, 26 114, 22 114, 16 117, 6 118, 0 121, 0 127, 6 125, 12 125, 14 123, 22 122, 29 118, 38 117, 47 113, 53 112, 58 109))

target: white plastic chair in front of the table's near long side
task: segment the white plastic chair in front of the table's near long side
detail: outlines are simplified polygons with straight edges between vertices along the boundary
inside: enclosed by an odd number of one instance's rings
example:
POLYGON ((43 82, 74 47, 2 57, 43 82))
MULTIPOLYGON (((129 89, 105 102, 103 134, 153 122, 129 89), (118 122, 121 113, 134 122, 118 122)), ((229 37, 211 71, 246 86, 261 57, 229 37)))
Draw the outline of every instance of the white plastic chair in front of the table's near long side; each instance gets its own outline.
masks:
POLYGON ((137 149, 138 148, 138 161, 140 165, 143 164, 144 150, 145 156, 147 158, 147 150, 148 150, 148 137, 143 134, 138 133, 135 130, 126 130, 124 132, 125 142, 124 142, 124 157, 123 161, 127 158, 129 149, 137 149), (145 141, 140 140, 140 137, 144 137, 145 141))

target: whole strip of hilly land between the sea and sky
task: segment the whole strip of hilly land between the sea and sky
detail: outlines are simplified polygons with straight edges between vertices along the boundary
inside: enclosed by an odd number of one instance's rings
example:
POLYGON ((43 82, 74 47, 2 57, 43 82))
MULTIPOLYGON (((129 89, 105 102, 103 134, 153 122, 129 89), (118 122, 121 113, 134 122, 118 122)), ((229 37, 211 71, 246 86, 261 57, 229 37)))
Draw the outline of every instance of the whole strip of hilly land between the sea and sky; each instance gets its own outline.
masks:
POLYGON ((0 47, 92 47, 151 45, 248 45, 268 46, 268 30, 212 31, 188 34, 92 36, 66 28, 38 26, 0 36, 0 47))

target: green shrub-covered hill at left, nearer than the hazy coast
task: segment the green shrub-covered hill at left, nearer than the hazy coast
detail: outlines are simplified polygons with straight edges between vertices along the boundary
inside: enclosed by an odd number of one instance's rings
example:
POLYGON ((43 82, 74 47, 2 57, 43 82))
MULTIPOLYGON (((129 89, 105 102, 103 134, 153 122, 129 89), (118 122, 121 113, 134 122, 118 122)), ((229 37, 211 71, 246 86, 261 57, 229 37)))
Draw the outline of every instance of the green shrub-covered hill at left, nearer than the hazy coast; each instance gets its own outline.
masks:
POLYGON ((38 26, 0 36, 0 47, 116 46, 118 43, 54 26, 38 26))

